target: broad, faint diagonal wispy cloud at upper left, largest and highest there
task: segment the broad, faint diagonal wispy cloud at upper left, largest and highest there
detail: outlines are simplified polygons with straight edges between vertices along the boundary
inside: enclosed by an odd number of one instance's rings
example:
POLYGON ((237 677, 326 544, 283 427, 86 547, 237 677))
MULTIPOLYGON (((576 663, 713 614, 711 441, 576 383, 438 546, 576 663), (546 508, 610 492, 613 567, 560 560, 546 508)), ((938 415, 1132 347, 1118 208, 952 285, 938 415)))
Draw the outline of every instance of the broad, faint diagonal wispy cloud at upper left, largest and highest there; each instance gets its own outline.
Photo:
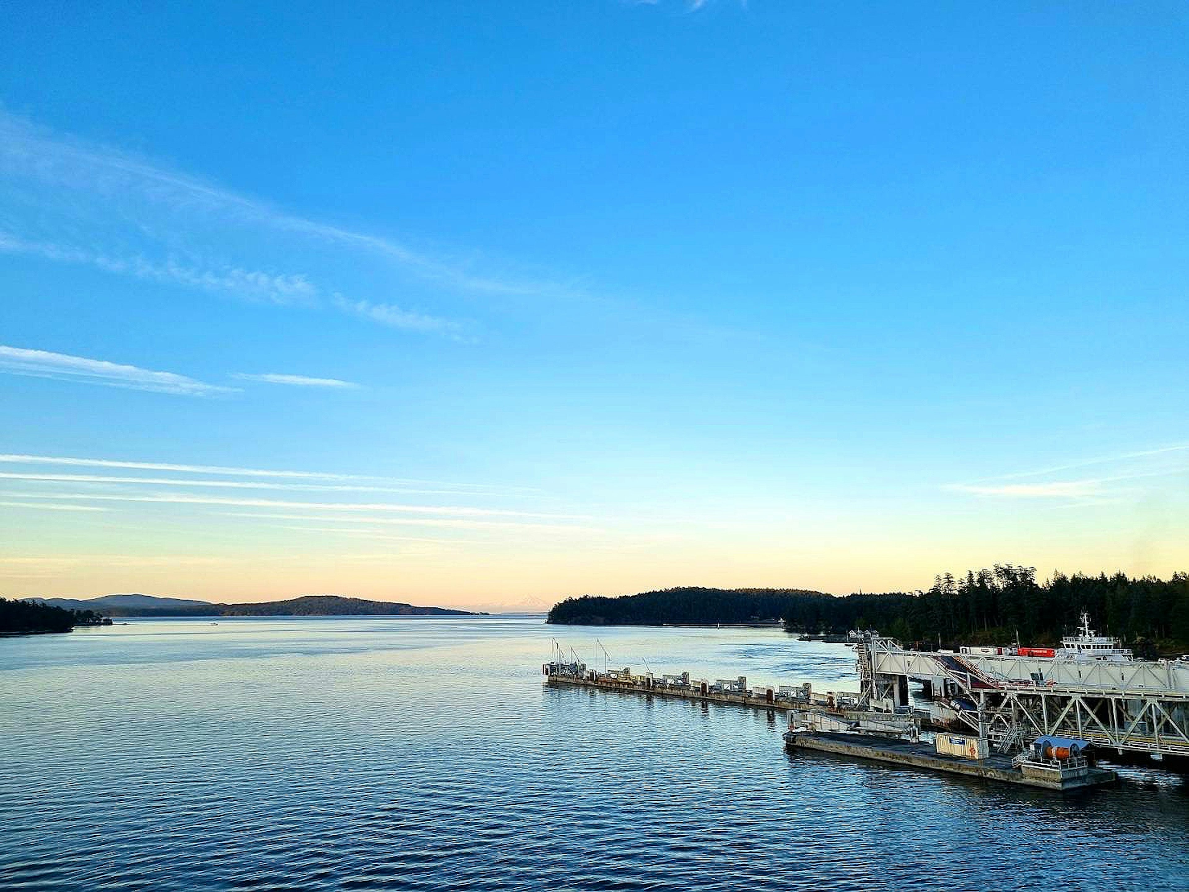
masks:
POLYGON ((391 274, 435 291, 439 303, 458 294, 570 291, 478 271, 473 258, 434 257, 391 238, 290 214, 0 111, 0 186, 6 181, 14 188, 0 215, 0 251, 144 281, 336 308, 388 327, 448 335, 464 322, 394 303, 386 296, 391 274), (307 269, 289 268, 295 256, 307 269), (363 275, 360 262, 370 264, 363 275))

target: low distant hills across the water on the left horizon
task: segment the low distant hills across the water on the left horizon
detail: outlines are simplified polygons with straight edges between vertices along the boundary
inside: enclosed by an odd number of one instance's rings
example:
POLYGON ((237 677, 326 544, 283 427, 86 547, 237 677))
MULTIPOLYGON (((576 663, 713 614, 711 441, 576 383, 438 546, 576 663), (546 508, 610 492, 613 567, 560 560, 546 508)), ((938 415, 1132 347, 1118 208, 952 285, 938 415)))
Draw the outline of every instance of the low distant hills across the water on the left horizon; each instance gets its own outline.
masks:
POLYGON ((208 601, 153 595, 105 595, 99 598, 26 598, 65 610, 95 610, 107 616, 474 616, 467 610, 365 601, 338 595, 307 595, 262 604, 213 604, 208 601))

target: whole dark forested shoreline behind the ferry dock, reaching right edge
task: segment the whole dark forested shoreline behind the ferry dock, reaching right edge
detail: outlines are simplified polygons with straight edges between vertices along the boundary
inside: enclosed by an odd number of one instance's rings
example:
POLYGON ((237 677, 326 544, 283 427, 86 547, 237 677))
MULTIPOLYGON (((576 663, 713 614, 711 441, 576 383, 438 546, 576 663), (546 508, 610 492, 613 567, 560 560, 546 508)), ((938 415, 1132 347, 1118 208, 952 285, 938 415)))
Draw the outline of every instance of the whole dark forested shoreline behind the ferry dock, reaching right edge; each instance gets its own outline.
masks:
POLYGON ((955 646, 1020 641, 1052 645, 1087 610, 1099 632, 1137 653, 1189 649, 1189 574, 1169 579, 1055 573, 1009 564, 943 573, 925 591, 856 592, 845 597, 798 589, 677 588, 617 598, 567 598, 547 622, 666 626, 762 622, 773 617, 797 633, 867 628, 905 643, 955 646))

